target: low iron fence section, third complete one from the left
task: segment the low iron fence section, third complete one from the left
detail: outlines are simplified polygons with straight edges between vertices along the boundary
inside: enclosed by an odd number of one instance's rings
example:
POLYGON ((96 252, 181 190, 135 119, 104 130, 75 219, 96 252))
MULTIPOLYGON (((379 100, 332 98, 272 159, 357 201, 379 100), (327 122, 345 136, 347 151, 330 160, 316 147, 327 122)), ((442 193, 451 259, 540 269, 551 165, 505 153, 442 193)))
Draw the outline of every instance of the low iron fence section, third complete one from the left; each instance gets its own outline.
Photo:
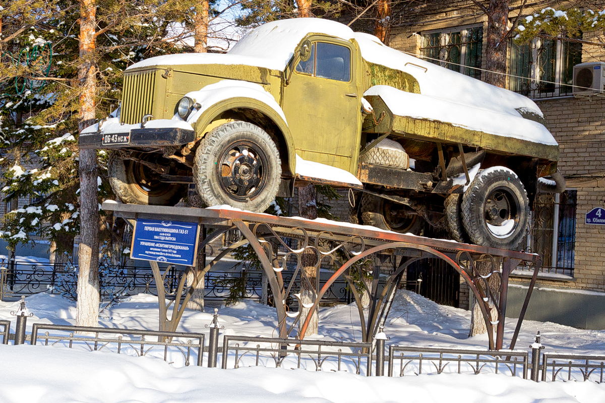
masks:
POLYGON ((528 357, 528 352, 517 350, 485 351, 390 346, 388 348, 388 376, 444 372, 474 373, 476 375, 504 372, 511 376, 522 376, 523 379, 527 379, 528 357), (396 355, 397 352, 399 355, 396 355), (394 372, 397 361, 399 361, 399 375, 394 372))

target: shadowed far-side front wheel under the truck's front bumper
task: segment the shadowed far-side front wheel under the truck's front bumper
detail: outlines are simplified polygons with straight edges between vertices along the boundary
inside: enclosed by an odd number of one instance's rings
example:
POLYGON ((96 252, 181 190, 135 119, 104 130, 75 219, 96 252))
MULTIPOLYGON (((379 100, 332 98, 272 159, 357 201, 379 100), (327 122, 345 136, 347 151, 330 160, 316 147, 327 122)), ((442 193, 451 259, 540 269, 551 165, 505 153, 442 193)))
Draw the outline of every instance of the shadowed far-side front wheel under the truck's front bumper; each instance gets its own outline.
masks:
POLYGON ((107 170, 111 190, 120 201, 132 204, 175 205, 187 193, 187 186, 158 180, 158 173, 111 152, 107 170))

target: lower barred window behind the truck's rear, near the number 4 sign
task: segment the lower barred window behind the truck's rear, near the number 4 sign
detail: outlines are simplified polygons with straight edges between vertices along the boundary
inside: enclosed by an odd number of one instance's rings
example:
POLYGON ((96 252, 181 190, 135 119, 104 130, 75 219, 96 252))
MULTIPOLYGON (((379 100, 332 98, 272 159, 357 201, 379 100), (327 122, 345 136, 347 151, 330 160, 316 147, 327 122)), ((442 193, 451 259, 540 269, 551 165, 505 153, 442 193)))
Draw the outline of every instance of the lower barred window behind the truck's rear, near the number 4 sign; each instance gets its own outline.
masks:
POLYGON ((542 273, 574 276, 577 196, 574 189, 535 196, 525 247, 542 257, 542 273))

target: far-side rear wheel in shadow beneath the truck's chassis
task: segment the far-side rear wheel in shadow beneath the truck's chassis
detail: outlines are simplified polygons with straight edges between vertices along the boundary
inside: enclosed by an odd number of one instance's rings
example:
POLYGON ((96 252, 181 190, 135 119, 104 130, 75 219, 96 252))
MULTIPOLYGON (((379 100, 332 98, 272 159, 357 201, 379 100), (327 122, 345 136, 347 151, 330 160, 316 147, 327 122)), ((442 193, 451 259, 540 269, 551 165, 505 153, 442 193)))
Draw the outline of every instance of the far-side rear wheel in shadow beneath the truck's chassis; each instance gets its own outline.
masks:
POLYGON ((365 225, 378 227, 382 230, 406 234, 420 235, 424 228, 424 219, 418 214, 395 216, 393 210, 404 210, 404 206, 364 193, 361 198, 361 219, 365 225))

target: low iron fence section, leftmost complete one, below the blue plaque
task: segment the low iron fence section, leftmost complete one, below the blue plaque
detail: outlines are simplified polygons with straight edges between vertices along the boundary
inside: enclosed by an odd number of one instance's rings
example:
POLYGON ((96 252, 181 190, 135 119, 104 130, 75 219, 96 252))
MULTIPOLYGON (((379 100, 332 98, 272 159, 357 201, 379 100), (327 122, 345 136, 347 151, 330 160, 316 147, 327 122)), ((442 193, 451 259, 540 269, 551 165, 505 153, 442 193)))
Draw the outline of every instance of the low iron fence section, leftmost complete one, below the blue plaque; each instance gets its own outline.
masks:
POLYGON ((201 366, 204 352, 204 334, 184 333, 184 332, 158 332, 154 330, 134 330, 134 329, 100 329, 99 327, 85 326, 64 326, 54 324, 34 323, 31 328, 31 344, 38 344, 38 341, 44 341, 48 346, 49 341, 54 341, 51 346, 64 346, 68 348, 84 348, 90 351, 111 350, 115 353, 125 353, 127 355, 152 355, 157 356, 155 347, 163 347, 164 361, 172 359, 172 363, 177 357, 183 358, 181 361, 185 366, 189 366, 193 358, 197 366, 201 366), (47 330, 44 334, 39 334, 42 330, 47 330), (50 334, 48 330, 62 332, 61 334, 50 334), (79 332, 82 335, 75 335, 79 332), (65 334, 67 333, 67 334, 65 334), (94 334, 93 337, 85 335, 94 334), (100 337, 100 335, 118 335, 116 338, 100 337), (155 337, 157 341, 152 341, 146 337, 155 337), (151 352, 151 354, 150 354, 151 352), (180 354, 179 354, 180 353, 180 354))

